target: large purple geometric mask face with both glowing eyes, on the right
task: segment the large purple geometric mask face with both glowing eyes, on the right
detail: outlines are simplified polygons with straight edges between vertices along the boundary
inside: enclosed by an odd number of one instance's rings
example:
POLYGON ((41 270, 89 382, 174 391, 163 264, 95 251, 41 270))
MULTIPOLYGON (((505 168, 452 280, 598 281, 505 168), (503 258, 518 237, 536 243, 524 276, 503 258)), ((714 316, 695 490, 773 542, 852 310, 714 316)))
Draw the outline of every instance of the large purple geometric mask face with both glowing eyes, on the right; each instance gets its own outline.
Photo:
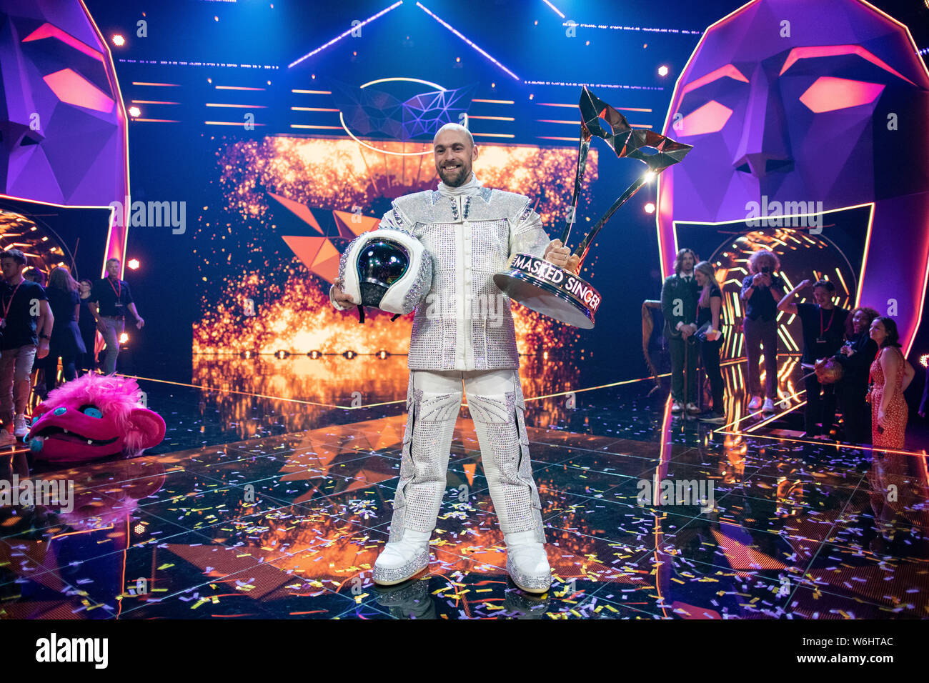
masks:
POLYGON ((929 257, 929 73, 902 24, 861 0, 754 0, 704 34, 663 133, 694 147, 659 180, 665 273, 675 222, 738 223, 763 197, 873 204, 863 250, 845 255, 853 294, 894 314, 909 349, 929 257))

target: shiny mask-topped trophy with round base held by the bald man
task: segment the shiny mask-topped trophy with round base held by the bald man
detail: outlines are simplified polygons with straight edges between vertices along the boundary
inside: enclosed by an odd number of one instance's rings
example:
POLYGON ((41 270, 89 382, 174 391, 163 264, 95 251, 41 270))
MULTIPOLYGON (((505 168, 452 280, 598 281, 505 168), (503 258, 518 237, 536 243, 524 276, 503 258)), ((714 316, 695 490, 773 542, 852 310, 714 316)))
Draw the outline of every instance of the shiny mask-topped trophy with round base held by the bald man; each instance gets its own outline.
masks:
MULTIPOLYGON (((626 117, 595 97, 585 85, 581 93, 581 148, 578 151, 577 172, 574 177, 574 193, 568 210, 561 243, 567 245, 577 210, 581 181, 587 165, 587 151, 593 136, 603 138, 619 157, 631 157, 645 162, 647 169, 609 207, 594 227, 574 250, 580 256, 578 272, 587 256, 596 234, 607 224, 617 209, 625 204, 648 180, 657 177, 668 166, 677 164, 692 149, 691 145, 675 142, 671 138, 647 129, 634 129, 626 117), (608 124, 608 130, 603 123, 608 124)), ((508 269, 493 276, 493 282, 506 296, 523 306, 535 310, 556 321, 585 330, 594 327, 594 315, 602 298, 591 284, 570 270, 559 268, 554 263, 532 254, 516 254, 508 269)))

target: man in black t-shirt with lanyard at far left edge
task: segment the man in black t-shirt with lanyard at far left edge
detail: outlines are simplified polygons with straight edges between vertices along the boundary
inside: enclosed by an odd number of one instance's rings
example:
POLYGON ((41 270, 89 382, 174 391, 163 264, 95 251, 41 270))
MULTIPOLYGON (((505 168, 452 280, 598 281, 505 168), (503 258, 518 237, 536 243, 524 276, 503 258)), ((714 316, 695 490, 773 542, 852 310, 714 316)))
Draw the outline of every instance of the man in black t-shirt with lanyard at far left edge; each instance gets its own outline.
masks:
POLYGON ((26 256, 19 249, 0 254, 0 446, 29 433, 26 405, 29 402, 33 361, 48 355, 48 339, 54 318, 41 285, 25 280, 26 256))

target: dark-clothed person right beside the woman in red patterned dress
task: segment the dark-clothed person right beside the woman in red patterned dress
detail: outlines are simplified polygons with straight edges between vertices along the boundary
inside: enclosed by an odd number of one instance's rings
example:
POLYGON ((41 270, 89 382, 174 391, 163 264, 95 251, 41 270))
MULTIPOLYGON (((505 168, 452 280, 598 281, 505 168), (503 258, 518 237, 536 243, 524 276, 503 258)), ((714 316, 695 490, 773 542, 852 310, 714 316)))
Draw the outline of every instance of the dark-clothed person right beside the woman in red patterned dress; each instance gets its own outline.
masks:
POLYGON ((877 354, 877 344, 870 338, 870 323, 880 315, 874 309, 858 307, 845 320, 845 343, 833 358, 842 365, 842 379, 835 387, 842 407, 845 440, 866 443, 870 436, 868 372, 877 354))

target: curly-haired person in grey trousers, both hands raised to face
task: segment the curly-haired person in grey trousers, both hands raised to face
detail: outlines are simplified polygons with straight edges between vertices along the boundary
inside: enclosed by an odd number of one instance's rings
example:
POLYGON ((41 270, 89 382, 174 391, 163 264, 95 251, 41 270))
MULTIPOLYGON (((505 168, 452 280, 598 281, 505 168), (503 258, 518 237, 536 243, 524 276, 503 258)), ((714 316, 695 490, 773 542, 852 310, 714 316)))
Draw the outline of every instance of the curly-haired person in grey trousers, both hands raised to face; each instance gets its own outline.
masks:
POLYGON ((774 412, 778 397, 778 302, 784 296, 784 281, 777 275, 780 259, 767 249, 749 257, 749 274, 742 281, 741 300, 745 307, 742 330, 748 361, 749 410, 774 412), (762 402, 761 373, 758 361, 765 350, 765 401, 762 402))

